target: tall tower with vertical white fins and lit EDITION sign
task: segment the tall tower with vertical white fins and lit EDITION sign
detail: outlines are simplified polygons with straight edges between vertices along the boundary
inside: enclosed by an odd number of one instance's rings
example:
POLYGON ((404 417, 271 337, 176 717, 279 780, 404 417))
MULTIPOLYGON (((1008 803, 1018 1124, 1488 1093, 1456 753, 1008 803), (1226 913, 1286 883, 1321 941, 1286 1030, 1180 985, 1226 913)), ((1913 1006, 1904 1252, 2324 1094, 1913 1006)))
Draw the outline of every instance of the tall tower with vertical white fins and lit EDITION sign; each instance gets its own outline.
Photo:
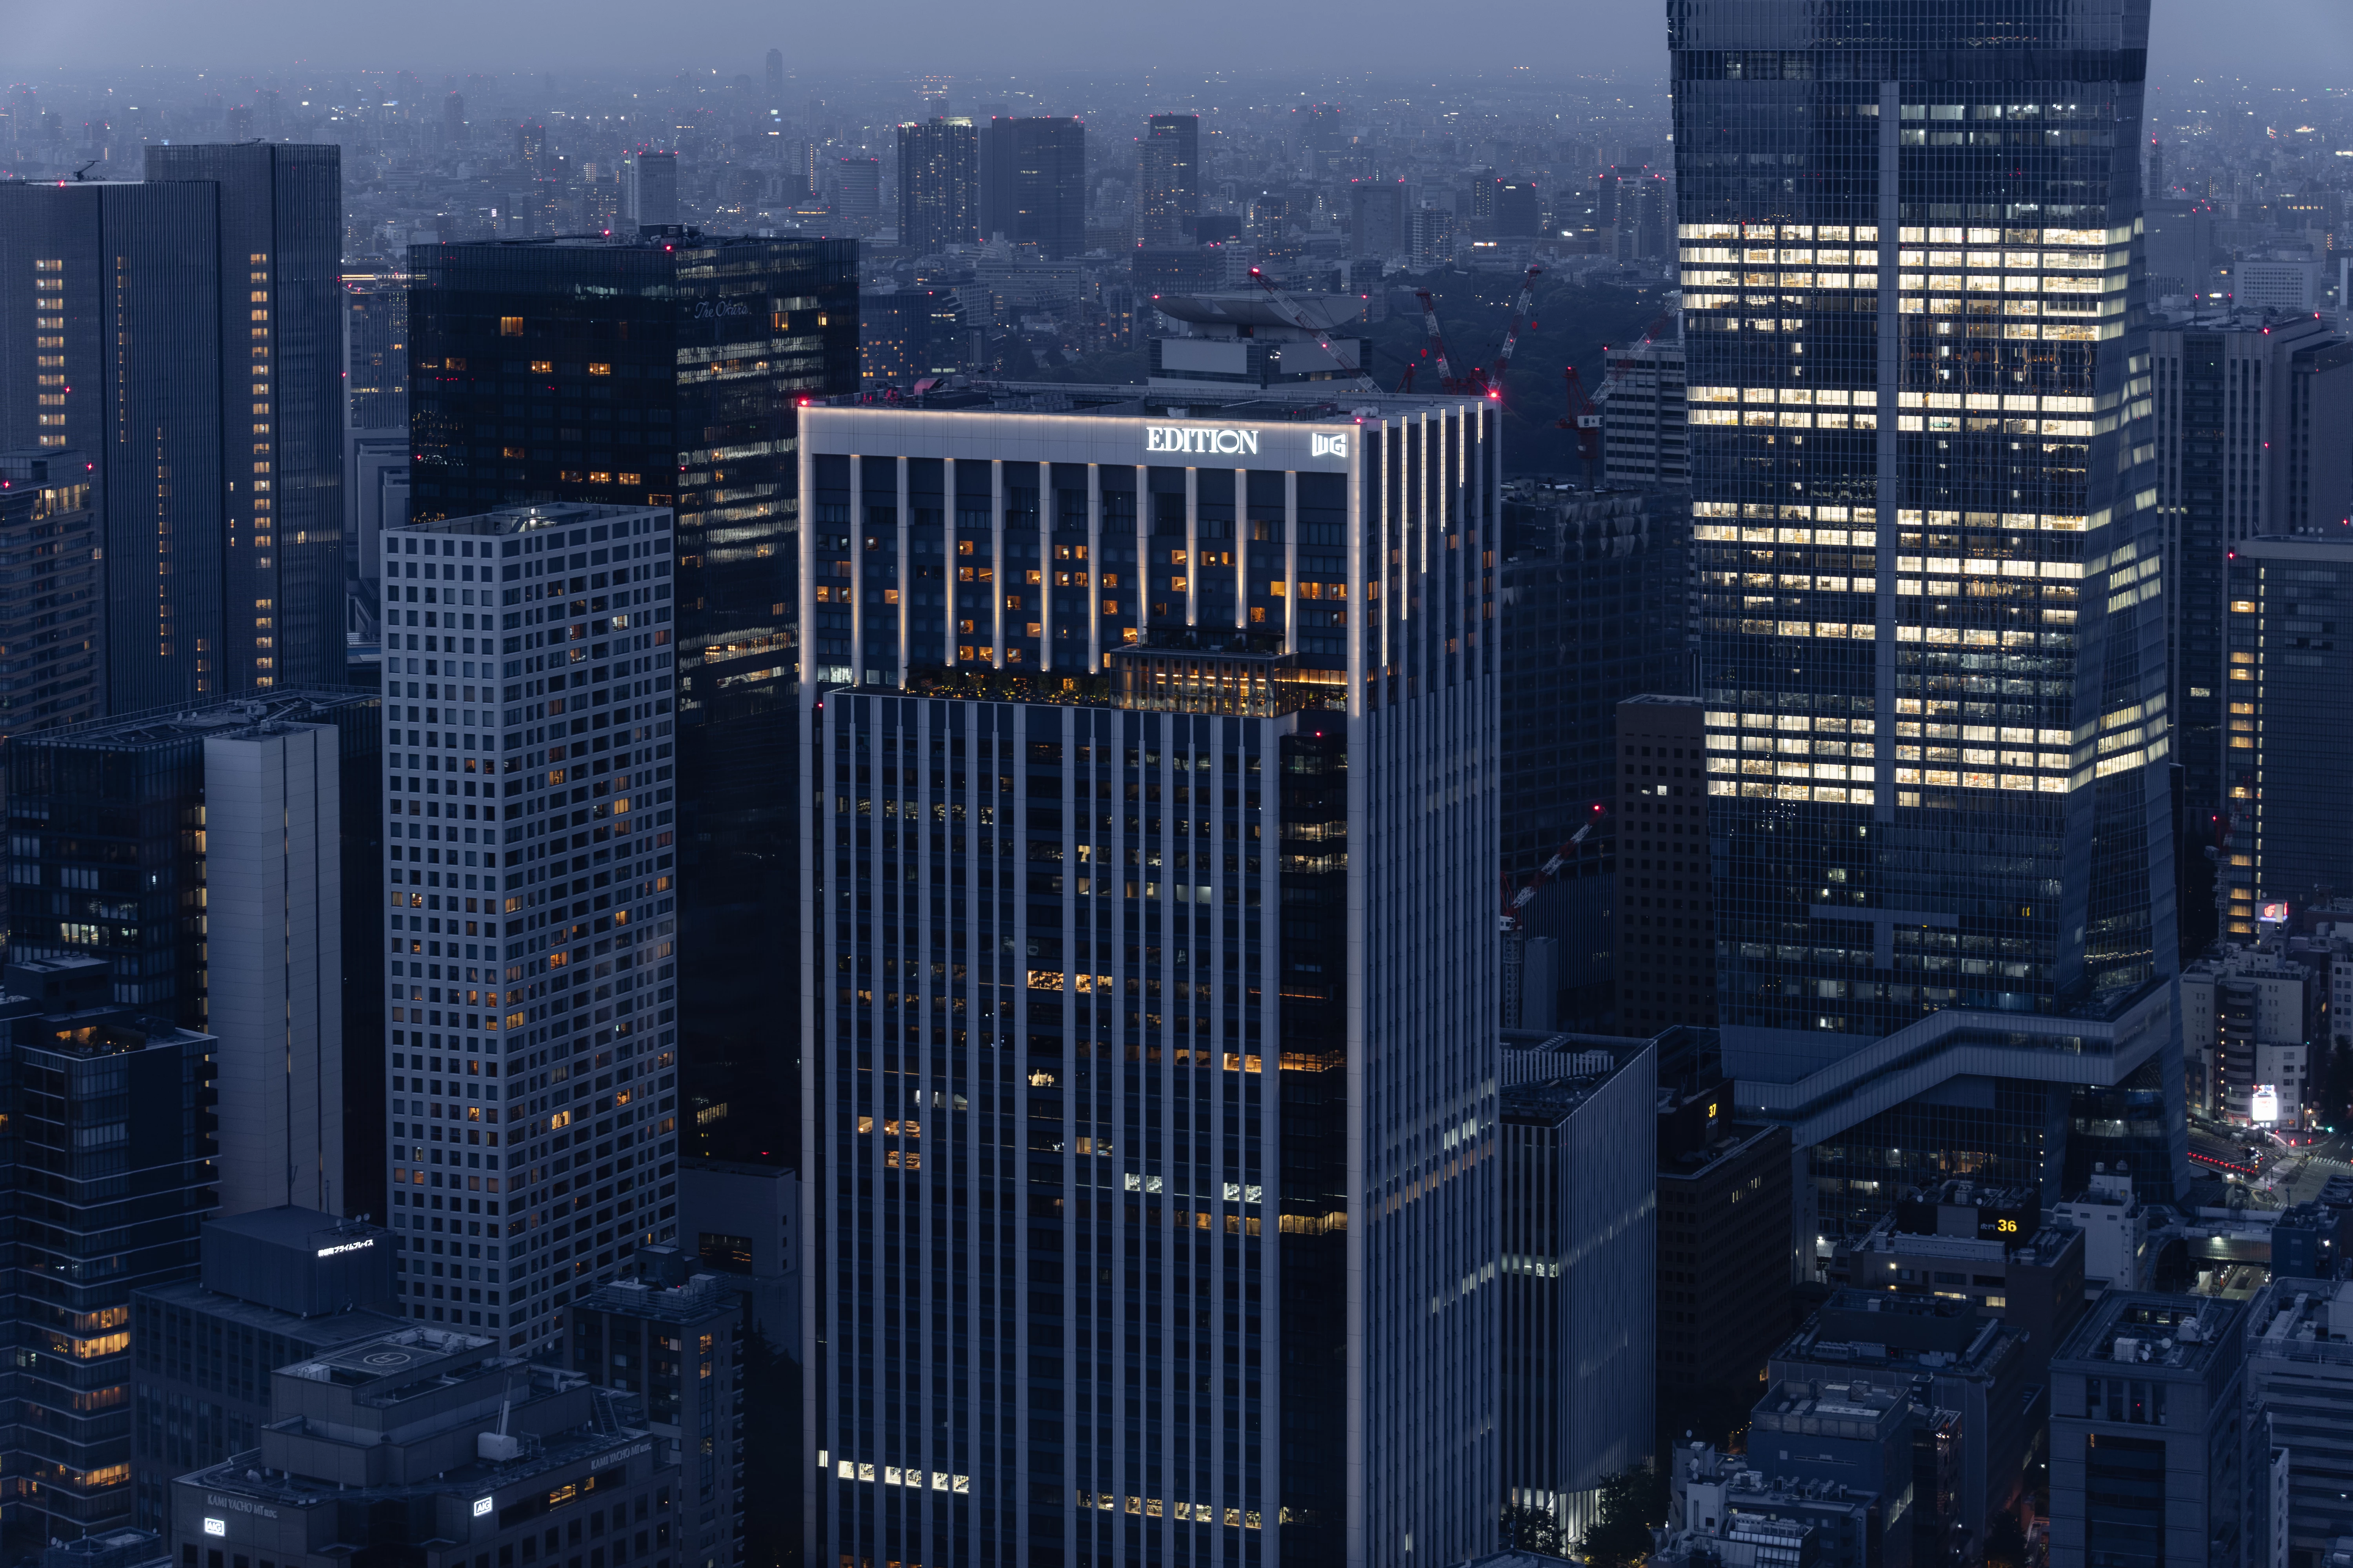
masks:
POLYGON ((807 1556, 1461 1561, 1494 411, 1132 397, 807 414, 807 1556))

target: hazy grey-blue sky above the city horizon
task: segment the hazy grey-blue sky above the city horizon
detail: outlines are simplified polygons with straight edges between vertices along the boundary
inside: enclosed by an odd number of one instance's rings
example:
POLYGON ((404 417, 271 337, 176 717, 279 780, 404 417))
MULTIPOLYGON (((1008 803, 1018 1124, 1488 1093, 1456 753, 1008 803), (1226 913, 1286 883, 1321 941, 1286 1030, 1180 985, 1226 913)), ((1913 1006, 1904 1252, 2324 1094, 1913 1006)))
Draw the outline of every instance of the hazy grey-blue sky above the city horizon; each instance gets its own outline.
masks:
MULTIPOLYGON (((56 66, 760 73, 1101 66, 1289 73, 1664 73, 1661 0, 0 0, 0 73, 56 66)), ((2151 75, 2353 82, 2353 0, 2155 0, 2151 75)))

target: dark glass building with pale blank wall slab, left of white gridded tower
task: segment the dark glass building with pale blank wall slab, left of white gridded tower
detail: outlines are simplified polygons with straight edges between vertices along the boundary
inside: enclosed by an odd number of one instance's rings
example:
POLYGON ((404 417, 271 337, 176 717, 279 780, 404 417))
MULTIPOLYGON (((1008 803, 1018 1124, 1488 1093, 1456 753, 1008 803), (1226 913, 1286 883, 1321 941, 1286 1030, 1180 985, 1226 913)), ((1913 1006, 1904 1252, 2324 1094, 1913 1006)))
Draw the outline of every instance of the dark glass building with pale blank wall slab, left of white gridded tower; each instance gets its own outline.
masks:
POLYGON ((7 752, 9 950, 101 959, 113 1006, 219 1037, 226 1213, 384 1211, 379 717, 280 689, 7 752))

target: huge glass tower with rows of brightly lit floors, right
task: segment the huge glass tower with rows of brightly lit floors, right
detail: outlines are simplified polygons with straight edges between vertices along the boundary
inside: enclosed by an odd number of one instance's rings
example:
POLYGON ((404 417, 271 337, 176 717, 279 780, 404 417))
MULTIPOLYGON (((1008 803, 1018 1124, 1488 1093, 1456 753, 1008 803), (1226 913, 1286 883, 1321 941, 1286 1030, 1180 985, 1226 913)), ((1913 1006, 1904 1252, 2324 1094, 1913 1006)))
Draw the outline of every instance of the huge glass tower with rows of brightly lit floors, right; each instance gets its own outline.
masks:
POLYGON ((1675 0, 1725 1067, 1819 1227, 2059 1182, 2148 1063, 2181 1173, 2146 0, 1675 0))

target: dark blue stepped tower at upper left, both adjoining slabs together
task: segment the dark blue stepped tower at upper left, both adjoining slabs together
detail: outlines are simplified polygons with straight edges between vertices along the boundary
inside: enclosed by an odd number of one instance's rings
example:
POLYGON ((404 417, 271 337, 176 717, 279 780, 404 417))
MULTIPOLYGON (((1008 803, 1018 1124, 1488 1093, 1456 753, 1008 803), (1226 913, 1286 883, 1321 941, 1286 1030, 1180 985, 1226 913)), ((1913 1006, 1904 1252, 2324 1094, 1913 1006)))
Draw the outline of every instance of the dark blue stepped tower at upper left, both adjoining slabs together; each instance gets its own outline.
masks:
POLYGON ((96 463, 106 708, 341 684, 336 150, 153 155, 0 186, 0 447, 96 463))

